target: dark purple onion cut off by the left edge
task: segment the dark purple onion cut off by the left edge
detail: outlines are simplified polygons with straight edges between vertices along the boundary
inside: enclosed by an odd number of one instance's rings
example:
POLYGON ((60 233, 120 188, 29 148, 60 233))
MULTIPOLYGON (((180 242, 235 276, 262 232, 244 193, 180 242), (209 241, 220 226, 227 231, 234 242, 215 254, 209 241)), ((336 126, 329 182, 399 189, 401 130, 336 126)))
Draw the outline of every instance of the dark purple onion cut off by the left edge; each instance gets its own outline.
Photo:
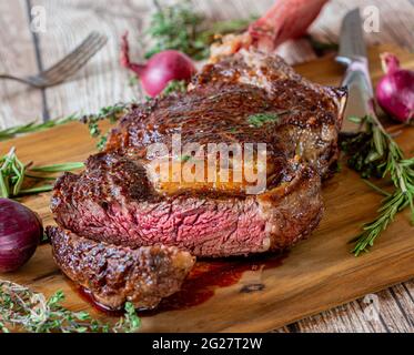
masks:
POLYGON ((26 264, 42 234, 42 223, 34 212, 16 201, 0 199, 0 273, 26 264))

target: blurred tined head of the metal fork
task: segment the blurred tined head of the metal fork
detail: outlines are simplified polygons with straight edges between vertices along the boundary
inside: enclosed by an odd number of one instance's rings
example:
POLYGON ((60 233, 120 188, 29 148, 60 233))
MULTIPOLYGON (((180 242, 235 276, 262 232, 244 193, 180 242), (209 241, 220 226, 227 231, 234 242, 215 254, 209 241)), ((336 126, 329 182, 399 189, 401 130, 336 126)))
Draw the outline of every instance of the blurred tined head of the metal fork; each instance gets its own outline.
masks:
POLYGON ((98 32, 92 32, 70 54, 68 54, 65 58, 63 58, 51 68, 43 71, 40 75, 44 79, 53 78, 55 74, 58 74, 59 77, 67 75, 68 70, 71 67, 73 67, 77 62, 82 61, 82 59, 84 59, 85 57, 89 57, 91 52, 93 52, 94 54, 99 49, 102 48, 105 42, 107 37, 101 36, 98 32))

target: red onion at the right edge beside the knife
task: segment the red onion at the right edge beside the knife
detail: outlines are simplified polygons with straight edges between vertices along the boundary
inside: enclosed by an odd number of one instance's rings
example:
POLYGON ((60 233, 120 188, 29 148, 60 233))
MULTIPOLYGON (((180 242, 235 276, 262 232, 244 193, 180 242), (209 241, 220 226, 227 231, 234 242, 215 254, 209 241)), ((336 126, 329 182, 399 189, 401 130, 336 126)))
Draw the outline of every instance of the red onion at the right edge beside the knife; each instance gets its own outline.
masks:
POLYGON ((414 71, 400 68, 392 53, 381 54, 385 75, 376 87, 376 101, 381 108, 400 122, 414 118, 414 71))

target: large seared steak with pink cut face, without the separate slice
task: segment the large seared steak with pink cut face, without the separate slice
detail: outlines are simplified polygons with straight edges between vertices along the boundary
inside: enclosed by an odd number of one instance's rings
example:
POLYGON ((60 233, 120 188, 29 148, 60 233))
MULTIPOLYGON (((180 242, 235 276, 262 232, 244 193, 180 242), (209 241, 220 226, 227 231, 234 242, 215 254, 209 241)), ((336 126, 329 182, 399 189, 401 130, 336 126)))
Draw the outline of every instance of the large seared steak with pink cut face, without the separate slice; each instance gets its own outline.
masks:
MULTIPOLYGON (((337 159, 345 101, 343 89, 311 83, 276 55, 242 50, 205 65, 186 93, 133 109, 111 132, 105 151, 89 158, 84 172, 59 179, 51 209, 61 229, 48 230, 57 263, 82 285, 93 283, 59 257, 69 243, 62 234, 78 245, 131 255, 154 245, 198 257, 291 247, 321 220, 321 180, 337 159), (264 172, 264 189, 251 194, 244 180, 189 182, 175 181, 170 170, 166 180, 154 174, 159 156, 150 149, 171 146, 174 134, 182 145, 236 143, 243 158, 246 143, 265 143, 264 165, 259 153, 241 164, 214 165, 215 173, 225 170, 230 176, 238 169, 264 172)), ((166 158, 172 166, 198 159, 170 151, 166 158)), ((123 298, 139 304, 137 290, 124 292, 123 283, 120 288, 123 298)))

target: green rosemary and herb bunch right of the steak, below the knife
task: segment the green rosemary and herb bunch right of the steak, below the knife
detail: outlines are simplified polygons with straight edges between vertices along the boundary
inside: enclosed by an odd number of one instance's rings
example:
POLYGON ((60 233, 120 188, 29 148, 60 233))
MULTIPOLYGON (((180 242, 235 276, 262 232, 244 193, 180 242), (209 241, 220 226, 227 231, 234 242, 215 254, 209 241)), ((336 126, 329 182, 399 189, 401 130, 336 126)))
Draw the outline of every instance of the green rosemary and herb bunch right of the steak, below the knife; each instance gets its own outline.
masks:
MULTIPOLYGON (((363 225, 363 231, 353 242, 352 252, 360 255, 374 245, 375 240, 393 222, 397 212, 410 206, 414 222, 414 158, 406 159, 398 144, 385 131, 375 114, 362 119, 352 119, 365 128, 363 132, 349 138, 342 143, 342 149, 350 155, 349 165, 361 173, 363 178, 388 178, 394 191, 385 194, 378 215, 363 225)), ((370 183, 372 184, 372 183, 370 183)))

